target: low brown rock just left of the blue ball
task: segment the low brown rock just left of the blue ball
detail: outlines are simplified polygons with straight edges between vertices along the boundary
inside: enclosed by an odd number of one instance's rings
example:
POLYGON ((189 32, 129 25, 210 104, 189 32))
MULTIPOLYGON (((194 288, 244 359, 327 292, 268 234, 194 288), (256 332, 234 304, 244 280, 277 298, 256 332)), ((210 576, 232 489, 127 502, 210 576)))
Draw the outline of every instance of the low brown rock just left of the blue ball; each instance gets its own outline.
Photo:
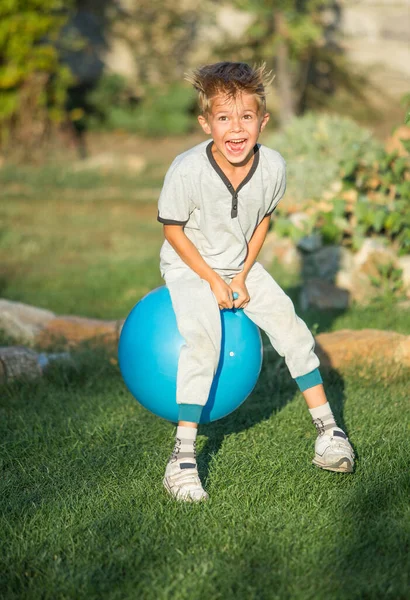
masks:
POLYGON ((69 346, 93 340, 104 344, 117 343, 123 321, 103 321, 85 317, 58 316, 49 321, 36 342, 49 346, 63 341, 69 346))

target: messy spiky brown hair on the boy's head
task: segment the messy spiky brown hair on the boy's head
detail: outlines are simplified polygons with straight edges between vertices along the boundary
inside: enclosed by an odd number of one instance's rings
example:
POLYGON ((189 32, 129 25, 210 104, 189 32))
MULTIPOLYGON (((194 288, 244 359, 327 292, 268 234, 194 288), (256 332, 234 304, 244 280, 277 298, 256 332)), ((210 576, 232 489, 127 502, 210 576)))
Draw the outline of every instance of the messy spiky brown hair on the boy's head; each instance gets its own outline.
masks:
POLYGON ((242 62, 204 65, 185 76, 198 92, 199 107, 204 115, 211 110, 212 98, 220 93, 230 98, 241 93, 255 94, 260 111, 265 111, 266 88, 273 78, 272 71, 266 70, 265 63, 252 68, 242 62))

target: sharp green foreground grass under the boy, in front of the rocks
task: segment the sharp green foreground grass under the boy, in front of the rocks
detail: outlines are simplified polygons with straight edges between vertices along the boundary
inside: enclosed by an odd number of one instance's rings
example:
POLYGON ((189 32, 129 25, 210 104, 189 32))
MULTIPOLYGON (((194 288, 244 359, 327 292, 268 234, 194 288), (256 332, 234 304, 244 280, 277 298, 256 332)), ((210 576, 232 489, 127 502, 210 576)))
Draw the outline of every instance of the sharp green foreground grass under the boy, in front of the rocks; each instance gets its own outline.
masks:
POLYGON ((310 464, 304 401, 268 354, 251 398, 200 428, 210 501, 197 506, 162 489, 174 427, 107 357, 78 361, 2 390, 3 597, 408 598, 405 373, 328 376, 358 455, 343 475, 310 464))

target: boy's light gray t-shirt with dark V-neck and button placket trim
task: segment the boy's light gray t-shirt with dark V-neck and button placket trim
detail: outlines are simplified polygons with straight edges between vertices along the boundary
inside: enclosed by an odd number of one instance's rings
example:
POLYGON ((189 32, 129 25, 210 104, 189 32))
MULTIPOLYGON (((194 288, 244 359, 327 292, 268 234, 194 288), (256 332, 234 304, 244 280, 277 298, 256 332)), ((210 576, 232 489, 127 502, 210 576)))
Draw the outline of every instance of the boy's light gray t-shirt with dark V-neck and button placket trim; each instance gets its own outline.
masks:
MULTIPOLYGON (((286 163, 276 150, 257 144, 252 167, 235 190, 215 161, 212 145, 207 140, 175 158, 159 198, 158 221, 183 225, 208 265, 234 277, 243 269, 256 227, 285 193, 286 163)), ((165 240, 161 274, 184 265, 165 240)))

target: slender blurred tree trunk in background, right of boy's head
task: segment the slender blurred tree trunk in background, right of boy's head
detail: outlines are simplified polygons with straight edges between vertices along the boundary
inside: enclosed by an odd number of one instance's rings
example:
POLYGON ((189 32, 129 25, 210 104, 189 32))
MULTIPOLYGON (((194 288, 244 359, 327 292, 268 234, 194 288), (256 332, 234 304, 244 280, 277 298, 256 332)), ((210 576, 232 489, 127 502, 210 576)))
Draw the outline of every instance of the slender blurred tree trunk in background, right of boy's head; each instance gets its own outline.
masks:
POLYGON ((289 48, 286 41, 286 21, 283 13, 275 13, 275 30, 279 36, 276 52, 276 72, 279 89, 279 120, 286 125, 296 114, 292 90, 292 74, 290 71, 289 48))

